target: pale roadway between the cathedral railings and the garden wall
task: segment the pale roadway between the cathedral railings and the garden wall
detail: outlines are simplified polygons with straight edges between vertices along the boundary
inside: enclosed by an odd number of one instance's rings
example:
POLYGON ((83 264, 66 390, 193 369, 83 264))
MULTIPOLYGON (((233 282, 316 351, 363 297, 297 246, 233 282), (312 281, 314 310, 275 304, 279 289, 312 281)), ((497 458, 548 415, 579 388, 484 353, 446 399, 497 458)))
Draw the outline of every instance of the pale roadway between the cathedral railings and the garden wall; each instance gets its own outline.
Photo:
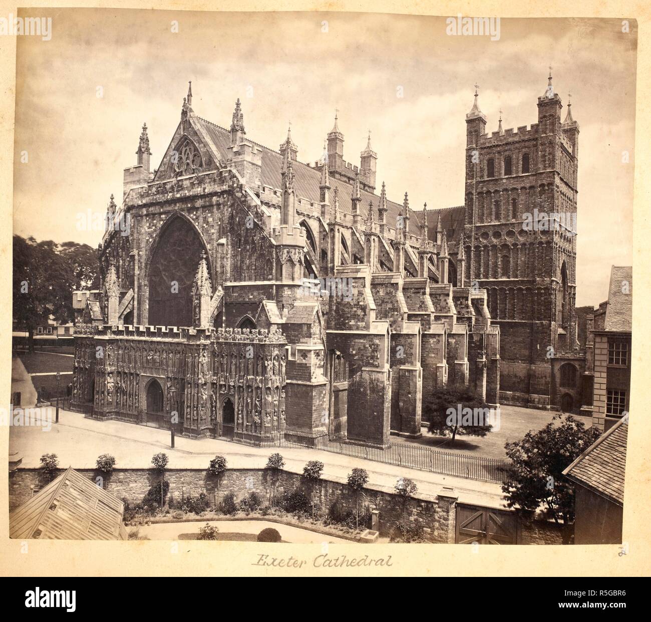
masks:
MULTIPOLYGON (((52 416, 54 410, 51 411, 52 416)), ((52 423, 50 431, 38 427, 17 427, 10 430, 10 452, 18 451, 23 457, 24 468, 40 466, 44 453, 55 453, 59 466, 94 468, 95 460, 102 453, 115 456, 118 468, 150 468, 150 460, 162 451, 169 456, 169 468, 207 468, 216 455, 223 455, 231 468, 264 468, 271 453, 283 455, 286 470, 302 473, 308 460, 324 463, 324 476, 346 480, 350 471, 364 468, 369 483, 393 489, 399 477, 410 477, 419 493, 436 495, 443 486, 453 487, 459 501, 490 507, 503 505, 499 484, 450 477, 427 471, 415 470, 373 460, 357 459, 318 449, 249 447, 238 443, 206 438, 193 440, 176 436, 174 449, 170 448, 170 432, 148 428, 122 421, 94 421, 82 414, 61 410, 59 424, 52 423)))

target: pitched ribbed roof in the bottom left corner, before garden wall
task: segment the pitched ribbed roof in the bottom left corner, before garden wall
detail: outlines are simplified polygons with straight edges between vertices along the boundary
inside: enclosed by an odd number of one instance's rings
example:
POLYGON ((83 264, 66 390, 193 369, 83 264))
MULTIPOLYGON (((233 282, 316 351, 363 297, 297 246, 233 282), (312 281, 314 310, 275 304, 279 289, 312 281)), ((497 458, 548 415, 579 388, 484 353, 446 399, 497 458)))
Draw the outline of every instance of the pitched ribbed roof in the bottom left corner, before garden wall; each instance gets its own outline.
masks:
POLYGON ((72 468, 9 515, 9 537, 125 539, 124 503, 72 468), (35 532, 40 531, 40 533, 35 532))

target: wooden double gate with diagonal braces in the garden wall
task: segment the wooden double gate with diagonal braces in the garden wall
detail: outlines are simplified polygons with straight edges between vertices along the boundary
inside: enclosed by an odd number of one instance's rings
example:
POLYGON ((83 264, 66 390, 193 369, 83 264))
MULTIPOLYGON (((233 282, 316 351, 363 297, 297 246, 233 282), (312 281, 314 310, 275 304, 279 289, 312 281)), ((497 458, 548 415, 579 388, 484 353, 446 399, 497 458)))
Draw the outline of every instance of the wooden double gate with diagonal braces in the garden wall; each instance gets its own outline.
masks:
POLYGON ((477 505, 456 506, 457 544, 518 544, 518 515, 477 505))

